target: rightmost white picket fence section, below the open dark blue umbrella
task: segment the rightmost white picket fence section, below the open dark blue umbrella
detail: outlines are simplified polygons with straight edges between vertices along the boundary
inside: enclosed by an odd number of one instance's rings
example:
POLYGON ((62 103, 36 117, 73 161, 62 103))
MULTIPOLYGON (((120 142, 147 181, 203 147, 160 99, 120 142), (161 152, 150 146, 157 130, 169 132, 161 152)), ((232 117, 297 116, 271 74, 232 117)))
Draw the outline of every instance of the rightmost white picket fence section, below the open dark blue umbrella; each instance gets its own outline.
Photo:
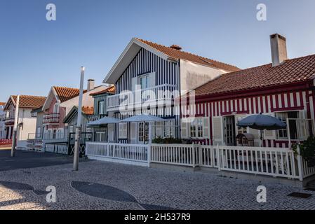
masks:
POLYGON ((300 179, 298 161, 289 148, 215 146, 215 150, 220 170, 300 179))

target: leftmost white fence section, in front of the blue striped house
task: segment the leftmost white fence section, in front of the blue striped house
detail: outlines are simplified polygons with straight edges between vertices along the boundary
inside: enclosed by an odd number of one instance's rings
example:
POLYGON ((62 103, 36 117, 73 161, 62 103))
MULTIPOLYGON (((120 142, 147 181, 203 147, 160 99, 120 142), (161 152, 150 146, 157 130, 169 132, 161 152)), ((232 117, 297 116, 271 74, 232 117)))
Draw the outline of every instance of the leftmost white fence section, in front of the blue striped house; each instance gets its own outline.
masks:
POLYGON ((86 155, 89 158, 109 159, 107 161, 149 165, 149 145, 143 144, 86 142, 86 155))

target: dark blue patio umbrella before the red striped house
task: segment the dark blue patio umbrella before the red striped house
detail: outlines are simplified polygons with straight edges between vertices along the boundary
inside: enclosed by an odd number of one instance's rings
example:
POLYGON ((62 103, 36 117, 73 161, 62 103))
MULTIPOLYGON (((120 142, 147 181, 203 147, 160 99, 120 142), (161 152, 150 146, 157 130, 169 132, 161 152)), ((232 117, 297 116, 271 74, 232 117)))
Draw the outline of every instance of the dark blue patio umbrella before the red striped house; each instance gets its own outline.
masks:
POLYGON ((248 116, 239 121, 236 124, 239 127, 250 127, 255 130, 260 130, 260 139, 262 140, 262 131, 263 130, 280 130, 286 128, 286 123, 283 123, 279 118, 275 118, 268 115, 263 114, 255 114, 252 116, 248 116))

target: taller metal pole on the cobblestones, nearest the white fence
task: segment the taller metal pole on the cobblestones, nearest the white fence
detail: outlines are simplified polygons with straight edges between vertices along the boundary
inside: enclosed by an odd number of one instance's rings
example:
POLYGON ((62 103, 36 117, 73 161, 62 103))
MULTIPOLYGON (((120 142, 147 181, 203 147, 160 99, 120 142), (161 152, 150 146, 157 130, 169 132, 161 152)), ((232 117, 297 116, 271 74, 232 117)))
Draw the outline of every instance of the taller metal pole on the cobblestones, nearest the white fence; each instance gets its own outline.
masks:
POLYGON ((85 70, 85 68, 83 66, 81 66, 78 120, 76 121, 76 136, 75 136, 75 142, 74 142, 74 156, 73 156, 73 169, 74 169, 74 171, 77 171, 79 169, 84 70, 85 70))

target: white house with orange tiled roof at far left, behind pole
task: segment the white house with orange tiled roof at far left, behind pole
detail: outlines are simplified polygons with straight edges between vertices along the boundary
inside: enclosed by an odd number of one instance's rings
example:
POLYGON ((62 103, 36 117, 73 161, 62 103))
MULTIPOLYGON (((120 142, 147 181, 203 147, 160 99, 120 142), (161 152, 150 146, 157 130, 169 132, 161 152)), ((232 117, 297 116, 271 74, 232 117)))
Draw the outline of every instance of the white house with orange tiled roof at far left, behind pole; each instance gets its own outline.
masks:
MULTIPOLYGON (((4 111, 5 118, 5 138, 12 139, 13 125, 15 120, 17 96, 11 96, 6 102, 4 111)), ((46 97, 20 95, 18 110, 18 130, 17 130, 17 148, 26 149, 27 139, 30 133, 36 131, 36 114, 32 113, 33 109, 43 106, 46 97)))

